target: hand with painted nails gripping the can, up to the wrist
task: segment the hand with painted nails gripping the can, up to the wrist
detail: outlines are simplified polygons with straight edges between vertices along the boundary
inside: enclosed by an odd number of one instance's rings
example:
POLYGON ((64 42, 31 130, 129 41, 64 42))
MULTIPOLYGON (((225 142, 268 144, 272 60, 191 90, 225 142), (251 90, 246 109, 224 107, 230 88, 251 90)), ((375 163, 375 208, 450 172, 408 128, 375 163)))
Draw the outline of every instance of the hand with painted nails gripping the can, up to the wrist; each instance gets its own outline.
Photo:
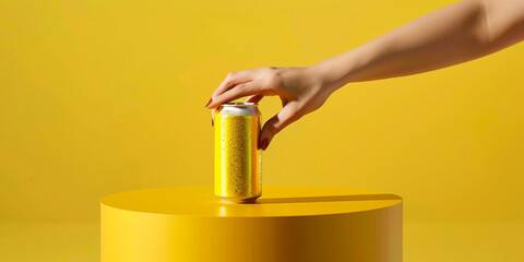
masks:
POLYGON ((265 151, 276 133, 320 108, 332 90, 324 86, 319 70, 313 67, 249 69, 228 73, 206 107, 212 109, 214 119, 216 108, 224 103, 245 96, 248 96, 247 103, 259 103, 264 96, 279 96, 282 110, 265 122, 260 134, 259 146, 265 151))

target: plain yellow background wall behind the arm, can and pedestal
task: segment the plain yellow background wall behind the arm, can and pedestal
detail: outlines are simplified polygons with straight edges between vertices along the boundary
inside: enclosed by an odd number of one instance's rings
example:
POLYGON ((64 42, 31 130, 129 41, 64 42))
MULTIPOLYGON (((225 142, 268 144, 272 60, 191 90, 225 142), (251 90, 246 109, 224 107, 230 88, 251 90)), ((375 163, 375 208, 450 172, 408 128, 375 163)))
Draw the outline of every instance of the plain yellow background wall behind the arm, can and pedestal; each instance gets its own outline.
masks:
MULTIPOLYGON (((228 71, 311 64, 452 2, 0 0, 0 253, 97 260, 102 196, 212 184, 203 105, 228 71)), ((406 261, 522 261, 523 58, 348 84, 273 140, 264 183, 403 196, 406 261)))

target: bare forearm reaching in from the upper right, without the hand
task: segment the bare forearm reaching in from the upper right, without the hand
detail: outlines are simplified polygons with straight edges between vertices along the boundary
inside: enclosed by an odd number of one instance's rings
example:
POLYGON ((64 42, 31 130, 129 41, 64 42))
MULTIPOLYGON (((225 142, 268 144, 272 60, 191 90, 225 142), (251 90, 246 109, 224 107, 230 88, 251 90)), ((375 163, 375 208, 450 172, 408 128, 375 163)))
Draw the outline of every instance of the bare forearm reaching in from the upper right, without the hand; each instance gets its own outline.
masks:
POLYGON ((314 67, 330 88, 409 75, 495 52, 524 37, 524 1, 465 0, 314 67))

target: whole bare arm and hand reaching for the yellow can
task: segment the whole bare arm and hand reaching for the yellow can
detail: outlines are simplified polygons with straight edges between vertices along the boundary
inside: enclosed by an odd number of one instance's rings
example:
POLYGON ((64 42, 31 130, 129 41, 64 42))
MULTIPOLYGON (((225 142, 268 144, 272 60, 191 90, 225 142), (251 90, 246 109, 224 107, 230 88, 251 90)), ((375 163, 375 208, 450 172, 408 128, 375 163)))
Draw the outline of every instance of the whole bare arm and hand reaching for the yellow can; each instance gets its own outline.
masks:
POLYGON ((212 117, 227 102, 279 96, 283 108, 260 135, 265 150, 276 133, 320 108, 340 87, 410 75, 466 62, 524 39, 524 0, 464 0, 433 11, 355 49, 301 68, 230 72, 213 93, 212 117))

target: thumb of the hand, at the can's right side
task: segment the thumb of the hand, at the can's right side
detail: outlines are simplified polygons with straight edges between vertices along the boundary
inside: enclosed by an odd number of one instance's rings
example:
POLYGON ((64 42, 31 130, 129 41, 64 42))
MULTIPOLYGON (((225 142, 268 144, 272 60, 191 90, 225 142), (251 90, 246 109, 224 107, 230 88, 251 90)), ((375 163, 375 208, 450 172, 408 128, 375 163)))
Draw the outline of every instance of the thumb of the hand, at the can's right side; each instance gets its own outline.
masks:
POLYGON ((282 110, 264 123, 260 132, 260 148, 265 151, 276 133, 282 131, 289 123, 298 120, 298 110, 291 103, 287 104, 282 110))

